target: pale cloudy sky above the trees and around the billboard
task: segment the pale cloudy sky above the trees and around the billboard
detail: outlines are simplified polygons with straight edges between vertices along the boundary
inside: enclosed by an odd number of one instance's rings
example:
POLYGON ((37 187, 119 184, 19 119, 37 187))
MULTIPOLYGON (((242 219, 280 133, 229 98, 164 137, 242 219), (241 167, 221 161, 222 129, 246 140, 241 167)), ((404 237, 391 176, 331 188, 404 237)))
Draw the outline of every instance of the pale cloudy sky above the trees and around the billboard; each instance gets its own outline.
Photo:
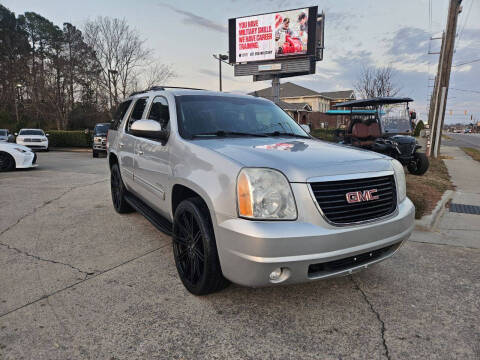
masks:
MULTIPOLYGON (((395 69, 401 95, 425 119, 445 29, 448 0, 0 0, 17 15, 34 11, 61 26, 79 28, 98 16, 125 18, 154 50, 159 62, 171 64, 172 86, 218 90, 218 61, 227 53, 229 18, 317 5, 325 11, 324 60, 316 74, 282 79, 316 91, 353 89, 363 66, 395 69), (430 16, 431 9, 431 16, 430 16)), ((480 59, 480 1, 463 0, 458 18, 453 64, 480 59)), ((250 92, 270 86, 251 76, 235 77, 223 65, 223 90, 250 92)), ((446 123, 480 121, 480 61, 452 68, 446 123), (465 115, 465 111, 467 115, 465 115)))

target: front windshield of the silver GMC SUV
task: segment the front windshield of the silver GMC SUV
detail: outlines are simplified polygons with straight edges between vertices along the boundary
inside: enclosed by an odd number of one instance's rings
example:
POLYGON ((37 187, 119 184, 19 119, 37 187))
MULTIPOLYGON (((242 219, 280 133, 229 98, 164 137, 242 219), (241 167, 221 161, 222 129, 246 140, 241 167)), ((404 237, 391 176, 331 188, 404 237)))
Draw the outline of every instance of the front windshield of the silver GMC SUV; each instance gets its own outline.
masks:
POLYGON ((184 138, 212 136, 309 137, 270 101, 211 95, 177 96, 178 128, 184 138))

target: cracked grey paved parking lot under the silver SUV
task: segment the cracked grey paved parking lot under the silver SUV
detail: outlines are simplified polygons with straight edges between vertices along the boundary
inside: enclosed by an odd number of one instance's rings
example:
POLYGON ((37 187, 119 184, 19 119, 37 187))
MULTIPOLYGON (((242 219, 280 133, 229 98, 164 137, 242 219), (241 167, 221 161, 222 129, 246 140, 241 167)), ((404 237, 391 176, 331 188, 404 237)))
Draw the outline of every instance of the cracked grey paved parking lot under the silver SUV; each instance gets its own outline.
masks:
POLYGON ((353 276, 205 296, 105 158, 0 174, 0 359, 479 359, 480 249, 414 232, 353 276), (438 239, 437 239, 438 240, 438 239))

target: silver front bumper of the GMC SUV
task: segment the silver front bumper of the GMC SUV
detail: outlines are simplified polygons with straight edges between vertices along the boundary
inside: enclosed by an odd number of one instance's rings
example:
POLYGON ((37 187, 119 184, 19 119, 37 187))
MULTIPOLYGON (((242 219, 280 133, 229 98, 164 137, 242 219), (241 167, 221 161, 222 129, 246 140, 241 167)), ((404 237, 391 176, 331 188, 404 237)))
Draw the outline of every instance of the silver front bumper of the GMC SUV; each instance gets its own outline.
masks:
POLYGON ((388 218, 339 227, 323 220, 305 184, 293 185, 297 204, 306 204, 297 221, 235 218, 214 225, 226 278, 257 287, 348 275, 391 257, 413 231, 415 207, 408 198, 388 218), (271 281, 277 268, 285 269, 283 277, 271 281))

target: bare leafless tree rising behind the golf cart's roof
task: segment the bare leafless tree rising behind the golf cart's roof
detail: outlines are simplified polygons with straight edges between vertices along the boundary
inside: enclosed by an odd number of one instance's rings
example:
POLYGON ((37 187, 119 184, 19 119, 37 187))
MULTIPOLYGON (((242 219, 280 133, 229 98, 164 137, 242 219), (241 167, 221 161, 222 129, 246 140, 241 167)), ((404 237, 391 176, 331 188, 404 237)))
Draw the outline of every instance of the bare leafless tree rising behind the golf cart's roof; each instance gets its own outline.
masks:
POLYGON ((401 88, 395 83, 394 70, 390 65, 384 67, 363 67, 354 84, 362 99, 395 96, 401 88))

